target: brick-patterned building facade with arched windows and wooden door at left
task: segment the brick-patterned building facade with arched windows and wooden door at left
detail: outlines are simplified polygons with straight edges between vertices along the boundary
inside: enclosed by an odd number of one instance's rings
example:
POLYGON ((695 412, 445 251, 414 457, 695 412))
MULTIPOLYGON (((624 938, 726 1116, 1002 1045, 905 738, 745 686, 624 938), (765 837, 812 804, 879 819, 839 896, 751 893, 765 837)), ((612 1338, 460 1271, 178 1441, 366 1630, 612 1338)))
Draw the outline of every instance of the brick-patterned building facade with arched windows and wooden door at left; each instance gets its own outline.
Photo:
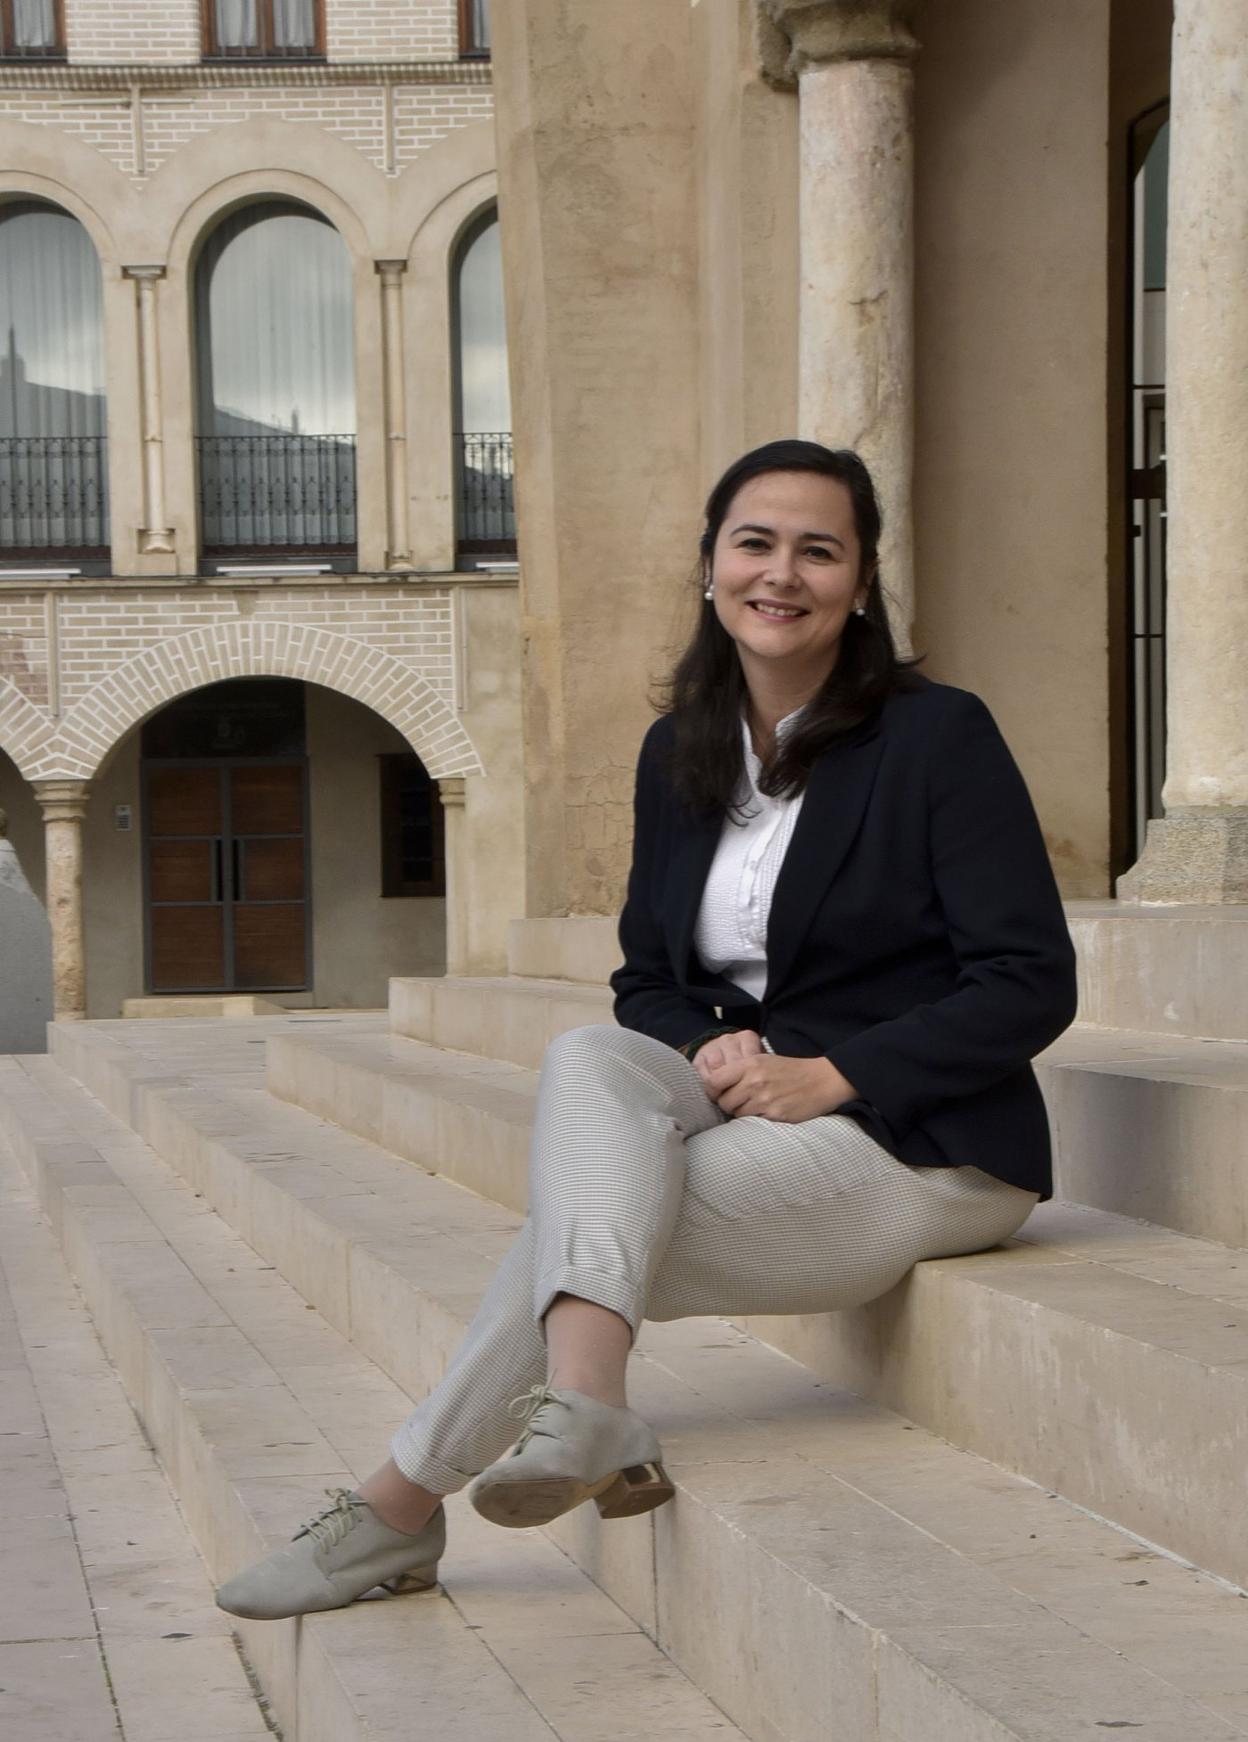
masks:
POLYGON ((0 807, 58 1007, 497 965, 485 5, 47 0, 0 33, 0 807))

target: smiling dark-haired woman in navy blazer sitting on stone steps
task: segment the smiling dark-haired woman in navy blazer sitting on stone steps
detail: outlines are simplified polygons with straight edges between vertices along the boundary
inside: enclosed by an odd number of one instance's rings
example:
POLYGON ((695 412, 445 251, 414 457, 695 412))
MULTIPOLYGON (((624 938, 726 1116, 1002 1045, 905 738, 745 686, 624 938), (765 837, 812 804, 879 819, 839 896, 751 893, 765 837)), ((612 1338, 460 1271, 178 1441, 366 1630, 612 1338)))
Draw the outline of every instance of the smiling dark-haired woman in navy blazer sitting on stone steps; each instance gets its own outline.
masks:
POLYGON ((432 1585, 469 1481, 497 1524, 657 1507, 643 1319, 858 1306, 1049 1195, 1030 1059, 1074 1019, 1070 937, 987 707, 894 652, 878 535, 861 460, 814 442, 711 491, 638 765, 621 1026, 546 1052, 528 1221, 444 1380, 221 1608, 432 1585))

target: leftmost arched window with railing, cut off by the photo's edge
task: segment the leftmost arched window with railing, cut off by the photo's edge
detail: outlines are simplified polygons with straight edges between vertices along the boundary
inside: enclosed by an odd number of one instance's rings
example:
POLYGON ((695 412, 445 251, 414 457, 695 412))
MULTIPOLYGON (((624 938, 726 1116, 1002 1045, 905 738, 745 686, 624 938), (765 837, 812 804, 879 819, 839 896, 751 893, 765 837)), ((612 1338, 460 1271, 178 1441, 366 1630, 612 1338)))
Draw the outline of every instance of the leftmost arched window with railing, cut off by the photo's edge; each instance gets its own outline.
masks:
POLYGON ((106 566, 99 258, 59 206, 0 206, 0 559, 106 566))

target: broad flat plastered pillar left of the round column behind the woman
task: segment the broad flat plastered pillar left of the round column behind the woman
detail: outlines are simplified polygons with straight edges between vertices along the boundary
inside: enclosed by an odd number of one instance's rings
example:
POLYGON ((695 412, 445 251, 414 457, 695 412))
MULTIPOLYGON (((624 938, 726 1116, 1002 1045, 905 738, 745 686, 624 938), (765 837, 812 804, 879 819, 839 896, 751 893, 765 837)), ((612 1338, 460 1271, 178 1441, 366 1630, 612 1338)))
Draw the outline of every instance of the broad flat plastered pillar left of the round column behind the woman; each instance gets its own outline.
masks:
POLYGON ((528 913, 615 913, 633 770, 688 601, 699 465, 692 12, 493 9, 528 913))

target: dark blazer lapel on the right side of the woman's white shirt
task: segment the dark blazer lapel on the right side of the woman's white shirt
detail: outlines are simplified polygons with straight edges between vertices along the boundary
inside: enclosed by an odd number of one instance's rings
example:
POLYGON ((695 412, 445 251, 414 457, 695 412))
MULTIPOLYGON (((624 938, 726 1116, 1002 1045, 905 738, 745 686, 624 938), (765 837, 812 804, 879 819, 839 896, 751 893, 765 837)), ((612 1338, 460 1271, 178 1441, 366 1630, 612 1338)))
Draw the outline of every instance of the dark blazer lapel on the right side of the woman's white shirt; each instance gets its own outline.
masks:
POLYGON ((877 716, 826 749, 811 770, 767 922, 767 998, 793 967, 816 908, 858 834, 882 749, 877 716))

